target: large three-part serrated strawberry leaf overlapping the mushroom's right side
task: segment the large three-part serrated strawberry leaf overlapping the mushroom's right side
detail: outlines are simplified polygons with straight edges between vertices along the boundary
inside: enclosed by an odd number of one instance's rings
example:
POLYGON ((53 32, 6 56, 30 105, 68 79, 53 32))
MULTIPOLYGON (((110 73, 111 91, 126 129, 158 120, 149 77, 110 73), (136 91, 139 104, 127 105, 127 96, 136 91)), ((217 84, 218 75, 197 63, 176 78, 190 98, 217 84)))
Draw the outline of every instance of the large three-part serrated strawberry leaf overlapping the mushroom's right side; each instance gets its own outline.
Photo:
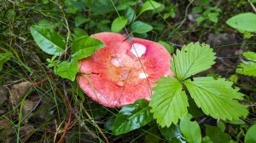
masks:
POLYGON ((214 59, 212 49, 199 43, 189 43, 173 55, 171 68, 175 77, 161 77, 155 82, 154 94, 150 96, 151 112, 161 127, 176 124, 188 112, 188 97, 183 91, 183 85, 189 90, 196 105, 207 115, 223 120, 237 120, 247 116, 247 109, 237 101, 243 99, 243 94, 238 92, 239 89, 233 89, 231 82, 213 77, 187 79, 207 70, 214 63, 214 59))

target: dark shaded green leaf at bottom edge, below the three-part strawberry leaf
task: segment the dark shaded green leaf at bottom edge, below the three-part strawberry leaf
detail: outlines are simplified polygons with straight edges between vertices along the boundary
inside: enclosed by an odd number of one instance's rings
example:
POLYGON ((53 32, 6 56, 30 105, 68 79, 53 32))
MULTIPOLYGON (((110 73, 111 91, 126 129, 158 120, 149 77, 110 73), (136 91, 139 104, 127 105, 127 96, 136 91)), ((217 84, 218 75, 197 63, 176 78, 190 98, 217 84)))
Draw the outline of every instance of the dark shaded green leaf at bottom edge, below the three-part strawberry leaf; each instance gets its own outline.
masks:
POLYGON ((211 138, 212 142, 230 143, 231 137, 224 133, 216 126, 206 125, 206 134, 211 138))

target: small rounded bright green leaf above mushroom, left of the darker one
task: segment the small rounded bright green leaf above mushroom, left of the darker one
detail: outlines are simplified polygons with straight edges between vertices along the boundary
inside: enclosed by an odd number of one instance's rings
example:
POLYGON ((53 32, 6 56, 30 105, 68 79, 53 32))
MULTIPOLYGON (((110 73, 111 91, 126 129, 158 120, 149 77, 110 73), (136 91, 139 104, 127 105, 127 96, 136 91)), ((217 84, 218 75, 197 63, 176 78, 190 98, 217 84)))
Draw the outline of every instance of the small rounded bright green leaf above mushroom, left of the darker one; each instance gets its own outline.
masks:
POLYGON ((113 20, 111 31, 113 32, 121 31, 125 27, 127 22, 128 20, 124 16, 117 17, 116 19, 113 20))

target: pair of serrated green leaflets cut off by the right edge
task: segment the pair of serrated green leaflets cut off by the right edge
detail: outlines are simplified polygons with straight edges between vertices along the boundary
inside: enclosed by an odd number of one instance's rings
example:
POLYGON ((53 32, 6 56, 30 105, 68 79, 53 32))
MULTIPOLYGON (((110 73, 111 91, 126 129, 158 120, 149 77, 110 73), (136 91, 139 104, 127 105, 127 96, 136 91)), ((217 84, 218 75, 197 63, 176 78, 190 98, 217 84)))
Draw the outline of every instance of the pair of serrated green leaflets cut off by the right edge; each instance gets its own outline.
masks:
POLYGON ((243 75, 256 77, 256 53, 245 52, 242 55, 245 56, 247 60, 251 61, 243 61, 240 63, 238 68, 236 68, 236 72, 243 75))

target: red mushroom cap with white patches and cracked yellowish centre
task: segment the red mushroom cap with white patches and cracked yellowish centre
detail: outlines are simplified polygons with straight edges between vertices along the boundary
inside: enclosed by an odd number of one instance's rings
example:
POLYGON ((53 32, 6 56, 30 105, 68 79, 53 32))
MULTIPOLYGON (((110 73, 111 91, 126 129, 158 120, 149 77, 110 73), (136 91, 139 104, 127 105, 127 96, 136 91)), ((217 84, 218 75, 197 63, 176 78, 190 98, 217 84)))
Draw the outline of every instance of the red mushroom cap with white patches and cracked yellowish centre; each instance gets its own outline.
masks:
POLYGON ((79 60, 77 81, 92 100, 107 107, 121 107, 136 100, 150 100, 160 77, 170 76, 171 55, 159 43, 102 32, 92 35, 105 43, 95 54, 79 60))

